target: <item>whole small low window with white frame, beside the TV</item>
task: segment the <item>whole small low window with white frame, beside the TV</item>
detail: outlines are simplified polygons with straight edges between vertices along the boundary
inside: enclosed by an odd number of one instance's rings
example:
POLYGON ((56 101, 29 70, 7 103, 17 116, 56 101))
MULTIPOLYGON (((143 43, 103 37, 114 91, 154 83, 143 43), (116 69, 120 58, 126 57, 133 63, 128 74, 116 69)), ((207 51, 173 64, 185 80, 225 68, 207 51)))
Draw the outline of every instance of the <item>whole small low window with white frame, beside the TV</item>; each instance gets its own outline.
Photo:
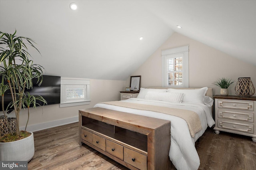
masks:
POLYGON ((90 104, 90 80, 61 78, 60 107, 90 104))

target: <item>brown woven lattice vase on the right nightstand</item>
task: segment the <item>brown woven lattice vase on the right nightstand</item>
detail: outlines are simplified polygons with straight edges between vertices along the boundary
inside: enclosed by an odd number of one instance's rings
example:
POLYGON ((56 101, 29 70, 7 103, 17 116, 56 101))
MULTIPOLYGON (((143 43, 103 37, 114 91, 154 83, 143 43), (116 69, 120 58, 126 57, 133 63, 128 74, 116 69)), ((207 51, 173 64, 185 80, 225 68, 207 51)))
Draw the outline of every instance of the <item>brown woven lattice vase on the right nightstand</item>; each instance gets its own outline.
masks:
POLYGON ((239 77, 235 86, 236 95, 250 97, 254 95, 255 88, 250 77, 239 77))

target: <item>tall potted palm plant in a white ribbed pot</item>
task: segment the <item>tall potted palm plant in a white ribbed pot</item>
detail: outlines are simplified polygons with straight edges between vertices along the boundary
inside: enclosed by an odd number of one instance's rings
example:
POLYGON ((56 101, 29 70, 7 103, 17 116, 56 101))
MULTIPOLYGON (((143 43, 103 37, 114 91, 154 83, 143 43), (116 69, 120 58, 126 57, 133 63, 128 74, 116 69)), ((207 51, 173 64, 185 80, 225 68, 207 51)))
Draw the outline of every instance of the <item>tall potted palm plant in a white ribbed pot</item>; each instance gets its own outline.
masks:
MULTIPOLYGON (((28 46, 34 46, 34 41, 30 38, 16 36, 0 32, 0 93, 2 96, 2 110, 6 122, 8 123, 6 111, 13 110, 16 115, 16 132, 12 132, 10 125, 9 134, 0 138, 0 160, 1 161, 29 161, 34 156, 34 136, 32 132, 27 132, 30 107, 36 107, 37 101, 47 104, 40 95, 34 96, 24 93, 26 89, 33 88, 32 79, 37 79, 38 85, 42 83, 41 65, 34 64, 28 53, 28 46), (4 108, 4 95, 11 94, 12 101, 7 108, 4 108), (27 109, 28 119, 25 130, 20 130, 20 111, 27 109)), ((38 51, 39 52, 39 51, 38 51)), ((40 52, 39 52, 40 53, 40 52)), ((14 130, 15 131, 15 130, 14 130)))

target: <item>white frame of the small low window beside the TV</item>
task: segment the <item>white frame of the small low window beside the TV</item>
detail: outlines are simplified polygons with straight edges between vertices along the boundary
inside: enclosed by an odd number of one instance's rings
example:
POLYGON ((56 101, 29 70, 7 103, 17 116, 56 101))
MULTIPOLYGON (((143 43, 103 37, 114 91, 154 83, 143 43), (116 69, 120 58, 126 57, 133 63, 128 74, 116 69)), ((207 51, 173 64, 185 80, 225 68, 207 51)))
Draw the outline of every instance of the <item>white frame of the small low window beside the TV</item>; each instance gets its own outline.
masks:
POLYGON ((60 107, 70 107, 78 105, 90 104, 90 80, 88 79, 74 79, 74 78, 61 78, 60 83, 60 107), (72 99, 66 98, 66 87, 74 88, 81 87, 84 90, 84 99, 72 99))

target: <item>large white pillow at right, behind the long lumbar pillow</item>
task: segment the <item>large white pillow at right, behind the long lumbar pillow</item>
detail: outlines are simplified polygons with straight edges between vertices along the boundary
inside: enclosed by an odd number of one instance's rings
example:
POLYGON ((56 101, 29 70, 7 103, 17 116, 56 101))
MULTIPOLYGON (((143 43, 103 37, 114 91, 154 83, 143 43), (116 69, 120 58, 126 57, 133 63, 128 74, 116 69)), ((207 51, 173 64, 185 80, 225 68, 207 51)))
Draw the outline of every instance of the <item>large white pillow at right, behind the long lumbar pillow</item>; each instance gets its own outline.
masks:
POLYGON ((201 89, 168 89, 171 93, 184 93, 182 102, 193 102, 204 104, 204 96, 208 87, 203 87, 201 89))

